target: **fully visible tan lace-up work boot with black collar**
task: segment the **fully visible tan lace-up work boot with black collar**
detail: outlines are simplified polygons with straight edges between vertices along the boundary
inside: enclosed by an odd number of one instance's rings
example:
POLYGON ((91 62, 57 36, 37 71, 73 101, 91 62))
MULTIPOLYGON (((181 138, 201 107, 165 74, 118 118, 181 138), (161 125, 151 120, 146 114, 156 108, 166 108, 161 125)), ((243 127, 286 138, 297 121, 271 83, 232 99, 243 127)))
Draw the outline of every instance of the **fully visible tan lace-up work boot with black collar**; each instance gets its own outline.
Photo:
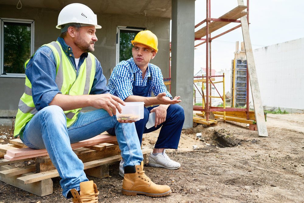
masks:
POLYGON ((124 171, 123 189, 121 190, 124 195, 144 194, 149 197, 164 197, 172 192, 168 185, 157 185, 146 176, 143 162, 141 165, 127 166, 124 171))

